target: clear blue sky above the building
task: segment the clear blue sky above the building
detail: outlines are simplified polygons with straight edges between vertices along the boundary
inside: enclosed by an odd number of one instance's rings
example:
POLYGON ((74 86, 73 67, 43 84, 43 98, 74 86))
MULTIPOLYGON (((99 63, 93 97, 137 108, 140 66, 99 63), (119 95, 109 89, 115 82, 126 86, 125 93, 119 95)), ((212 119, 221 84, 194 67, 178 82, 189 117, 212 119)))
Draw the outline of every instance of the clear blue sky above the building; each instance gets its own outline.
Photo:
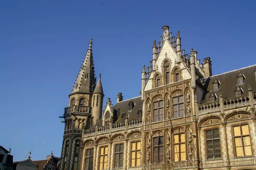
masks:
POLYGON ((60 156, 68 106, 88 42, 104 100, 139 96, 142 65, 162 26, 213 74, 256 64, 255 0, 0 1, 0 145, 15 161, 60 156))

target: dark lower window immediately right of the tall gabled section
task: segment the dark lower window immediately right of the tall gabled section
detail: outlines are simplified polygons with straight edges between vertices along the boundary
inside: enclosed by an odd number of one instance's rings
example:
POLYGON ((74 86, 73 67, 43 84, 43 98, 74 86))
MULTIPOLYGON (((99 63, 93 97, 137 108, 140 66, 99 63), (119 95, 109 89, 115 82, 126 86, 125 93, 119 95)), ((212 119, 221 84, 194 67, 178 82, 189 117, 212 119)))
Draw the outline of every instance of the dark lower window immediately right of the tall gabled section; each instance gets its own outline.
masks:
POLYGON ((207 159, 221 158, 219 129, 206 131, 207 159))

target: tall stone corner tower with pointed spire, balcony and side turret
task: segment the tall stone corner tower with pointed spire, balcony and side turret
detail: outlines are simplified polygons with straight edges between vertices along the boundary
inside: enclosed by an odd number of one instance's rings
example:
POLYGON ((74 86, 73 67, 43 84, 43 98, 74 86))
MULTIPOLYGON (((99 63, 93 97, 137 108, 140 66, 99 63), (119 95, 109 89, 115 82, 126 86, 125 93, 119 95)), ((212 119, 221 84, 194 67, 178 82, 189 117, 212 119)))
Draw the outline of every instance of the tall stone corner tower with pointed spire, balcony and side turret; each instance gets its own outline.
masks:
POLYGON ((61 152, 61 170, 79 170, 82 127, 92 127, 95 125, 96 119, 101 118, 104 94, 101 75, 96 85, 92 44, 92 39, 90 39, 89 49, 69 95, 69 107, 64 109, 64 115, 61 116, 65 119, 63 121, 65 128, 61 152))

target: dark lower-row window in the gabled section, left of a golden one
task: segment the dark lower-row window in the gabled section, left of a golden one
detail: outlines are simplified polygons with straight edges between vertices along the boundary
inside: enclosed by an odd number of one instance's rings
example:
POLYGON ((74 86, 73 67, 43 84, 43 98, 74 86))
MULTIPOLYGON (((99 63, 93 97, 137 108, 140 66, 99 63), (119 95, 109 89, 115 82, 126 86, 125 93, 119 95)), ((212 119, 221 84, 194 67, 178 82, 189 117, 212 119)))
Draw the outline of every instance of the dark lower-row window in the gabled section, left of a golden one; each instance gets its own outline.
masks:
POLYGON ((154 164, 163 162, 163 136, 153 138, 154 164))

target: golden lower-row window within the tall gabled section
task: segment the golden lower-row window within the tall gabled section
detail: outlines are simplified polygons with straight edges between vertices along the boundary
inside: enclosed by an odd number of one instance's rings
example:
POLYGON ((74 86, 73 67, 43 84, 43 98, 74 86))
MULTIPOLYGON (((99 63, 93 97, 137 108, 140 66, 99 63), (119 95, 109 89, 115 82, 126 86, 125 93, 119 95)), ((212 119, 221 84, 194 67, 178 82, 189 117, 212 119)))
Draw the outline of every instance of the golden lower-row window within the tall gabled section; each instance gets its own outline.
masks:
POLYGON ((174 161, 186 160, 185 133, 177 133, 174 135, 174 161))

